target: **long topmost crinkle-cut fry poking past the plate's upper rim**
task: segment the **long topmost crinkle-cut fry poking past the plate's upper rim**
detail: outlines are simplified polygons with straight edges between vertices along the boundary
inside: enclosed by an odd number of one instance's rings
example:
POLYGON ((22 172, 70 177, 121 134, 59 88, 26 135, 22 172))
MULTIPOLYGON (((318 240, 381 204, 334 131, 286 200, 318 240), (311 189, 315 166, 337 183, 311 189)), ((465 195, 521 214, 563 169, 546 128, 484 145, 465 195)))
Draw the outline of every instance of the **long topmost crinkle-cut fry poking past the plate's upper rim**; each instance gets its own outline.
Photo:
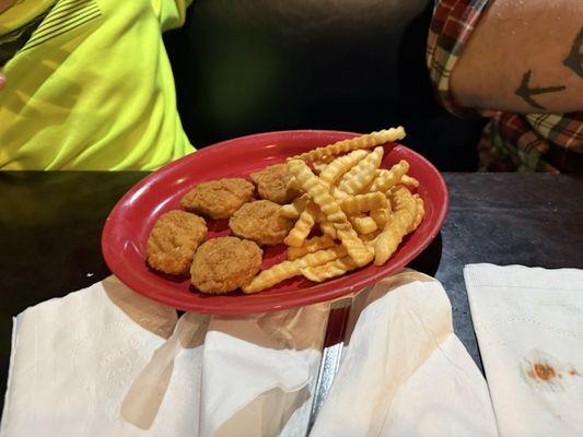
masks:
POLYGON ((342 153, 351 152, 359 149, 372 149, 376 145, 403 140, 404 138, 405 129, 399 126, 398 128, 385 129, 378 132, 371 132, 365 135, 338 141, 334 144, 329 144, 324 147, 317 147, 308 152, 302 153, 301 155, 293 156, 288 161, 322 161, 322 158, 325 156, 340 155, 342 153))

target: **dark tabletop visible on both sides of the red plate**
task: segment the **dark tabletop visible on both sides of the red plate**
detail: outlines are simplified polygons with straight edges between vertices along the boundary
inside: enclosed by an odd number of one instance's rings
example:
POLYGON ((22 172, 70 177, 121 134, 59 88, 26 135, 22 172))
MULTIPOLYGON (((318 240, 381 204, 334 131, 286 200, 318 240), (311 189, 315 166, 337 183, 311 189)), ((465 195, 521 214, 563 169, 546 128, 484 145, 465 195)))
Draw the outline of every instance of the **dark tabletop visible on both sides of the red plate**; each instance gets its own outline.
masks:
MULTIPOLYGON (((116 201, 144 176, 0 173, 2 388, 9 368, 12 317, 109 274, 101 255, 103 224, 116 201)), ((464 265, 491 262, 583 268, 583 178, 543 174, 444 176, 450 188, 450 214, 441 235, 411 267, 443 283, 452 302, 455 332, 481 368, 464 265)))

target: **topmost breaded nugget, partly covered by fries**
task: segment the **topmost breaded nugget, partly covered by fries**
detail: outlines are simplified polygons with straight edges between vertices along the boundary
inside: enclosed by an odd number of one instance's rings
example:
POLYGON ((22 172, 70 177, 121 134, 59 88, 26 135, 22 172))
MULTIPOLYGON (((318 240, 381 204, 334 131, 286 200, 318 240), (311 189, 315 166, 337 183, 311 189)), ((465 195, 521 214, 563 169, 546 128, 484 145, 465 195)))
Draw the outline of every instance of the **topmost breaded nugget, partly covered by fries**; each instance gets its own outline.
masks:
POLYGON ((291 202, 300 196, 300 191, 289 185, 292 177, 285 164, 270 165, 250 174, 250 180, 257 186, 259 197, 279 204, 291 202))

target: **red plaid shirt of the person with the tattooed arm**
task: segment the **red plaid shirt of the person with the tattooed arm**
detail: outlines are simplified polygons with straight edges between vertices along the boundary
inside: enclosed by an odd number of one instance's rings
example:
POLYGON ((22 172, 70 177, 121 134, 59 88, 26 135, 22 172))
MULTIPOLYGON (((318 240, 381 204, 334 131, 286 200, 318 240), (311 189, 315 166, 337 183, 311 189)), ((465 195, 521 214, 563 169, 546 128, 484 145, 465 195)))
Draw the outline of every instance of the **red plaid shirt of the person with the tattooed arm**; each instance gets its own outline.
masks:
MULTIPOLYGON (((438 0, 427 61, 438 99, 460 117, 450 93, 452 70, 490 0, 438 0)), ((583 172, 583 113, 494 115, 478 144, 481 170, 583 172)))

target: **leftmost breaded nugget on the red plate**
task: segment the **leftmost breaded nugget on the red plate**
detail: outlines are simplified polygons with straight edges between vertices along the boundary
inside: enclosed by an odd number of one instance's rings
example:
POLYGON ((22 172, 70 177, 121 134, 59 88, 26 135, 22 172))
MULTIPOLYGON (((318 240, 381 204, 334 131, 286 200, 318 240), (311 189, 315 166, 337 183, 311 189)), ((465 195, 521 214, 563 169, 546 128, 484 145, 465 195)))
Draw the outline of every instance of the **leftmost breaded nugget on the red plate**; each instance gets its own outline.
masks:
POLYGON ((205 218, 184 211, 167 212, 156 221, 148 238, 148 264, 164 273, 185 274, 206 237, 205 218))

